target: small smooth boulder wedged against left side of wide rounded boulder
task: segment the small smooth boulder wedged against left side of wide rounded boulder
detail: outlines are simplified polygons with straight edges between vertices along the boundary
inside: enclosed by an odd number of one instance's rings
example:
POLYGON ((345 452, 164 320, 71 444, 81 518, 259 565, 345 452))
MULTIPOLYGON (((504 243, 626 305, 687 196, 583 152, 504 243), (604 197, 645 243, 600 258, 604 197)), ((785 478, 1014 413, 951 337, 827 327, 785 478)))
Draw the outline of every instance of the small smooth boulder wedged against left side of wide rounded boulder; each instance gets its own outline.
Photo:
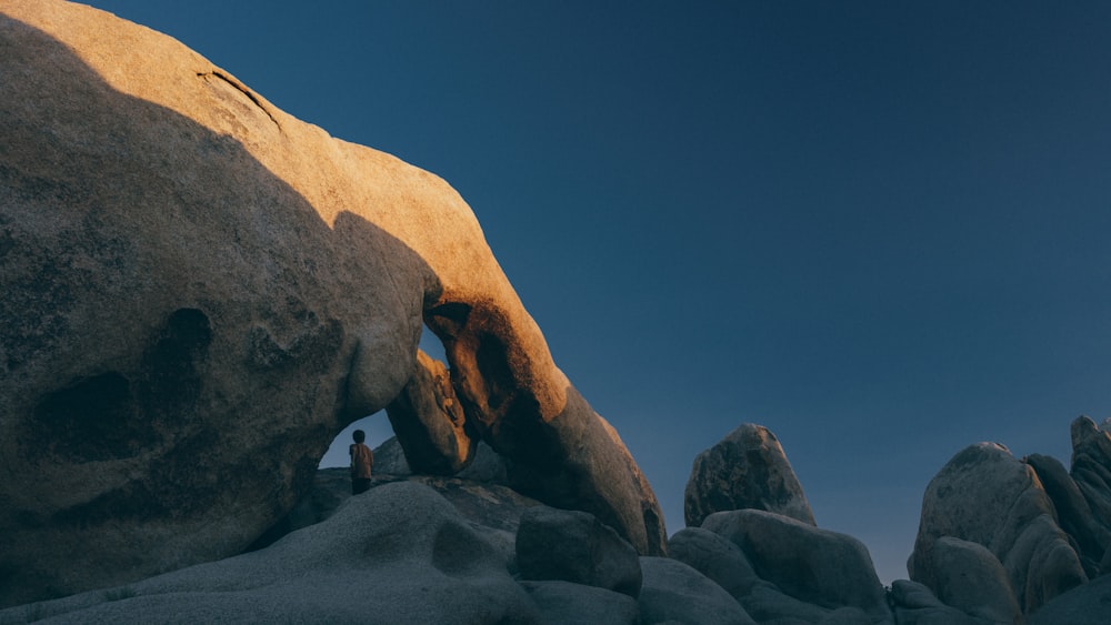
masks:
POLYGON ((705 575, 737 599, 760 582, 740 547, 709 530, 680 530, 668 541, 668 555, 705 575))

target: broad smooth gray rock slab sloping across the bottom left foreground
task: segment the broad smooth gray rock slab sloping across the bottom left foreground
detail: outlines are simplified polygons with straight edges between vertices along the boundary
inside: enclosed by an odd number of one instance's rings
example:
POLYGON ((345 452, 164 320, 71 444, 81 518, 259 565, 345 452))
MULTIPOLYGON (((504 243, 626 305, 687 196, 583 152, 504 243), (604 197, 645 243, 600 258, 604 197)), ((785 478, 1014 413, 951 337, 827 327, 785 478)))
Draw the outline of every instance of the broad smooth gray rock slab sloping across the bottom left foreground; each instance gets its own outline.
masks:
POLYGON ((0 612, 44 623, 539 623, 482 532, 432 490, 349 497, 273 545, 124 587, 0 612))

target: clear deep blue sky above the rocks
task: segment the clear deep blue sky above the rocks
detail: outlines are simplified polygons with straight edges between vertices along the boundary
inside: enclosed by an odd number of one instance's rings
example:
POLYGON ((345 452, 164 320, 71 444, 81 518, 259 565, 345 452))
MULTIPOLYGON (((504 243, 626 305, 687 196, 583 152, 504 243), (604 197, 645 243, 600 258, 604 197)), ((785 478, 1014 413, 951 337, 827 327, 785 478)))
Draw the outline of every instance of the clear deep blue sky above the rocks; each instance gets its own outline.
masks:
POLYGON ((91 3, 458 189, 670 533, 760 423, 890 582, 953 454, 1111 414, 1111 3, 91 3))

